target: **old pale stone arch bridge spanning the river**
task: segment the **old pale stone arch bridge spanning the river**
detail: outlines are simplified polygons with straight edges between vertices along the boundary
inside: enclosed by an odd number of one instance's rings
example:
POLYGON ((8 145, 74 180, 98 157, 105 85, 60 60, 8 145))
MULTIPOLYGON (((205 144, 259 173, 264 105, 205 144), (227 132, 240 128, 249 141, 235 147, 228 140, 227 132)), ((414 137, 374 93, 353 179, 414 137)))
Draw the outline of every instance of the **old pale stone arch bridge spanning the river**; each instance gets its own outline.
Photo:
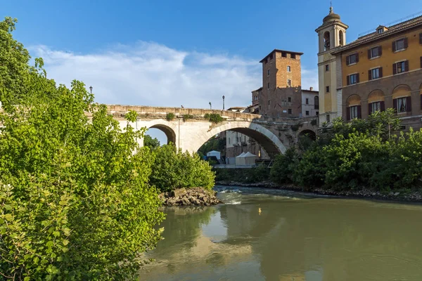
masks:
MULTIPOLYGON (((236 131, 255 139, 270 157, 284 153, 297 143, 300 135, 316 136, 316 117, 272 118, 243 112, 205 110, 179 107, 150 107, 108 105, 108 112, 124 127, 124 115, 130 110, 138 113, 132 124, 136 129, 160 129, 167 141, 183 151, 196 152, 210 138, 223 131, 236 131), (173 115, 173 119, 168 117, 173 115), (205 119, 205 115, 218 114, 223 118, 218 124, 205 119)), ((143 145, 143 140, 140 140, 143 145)))

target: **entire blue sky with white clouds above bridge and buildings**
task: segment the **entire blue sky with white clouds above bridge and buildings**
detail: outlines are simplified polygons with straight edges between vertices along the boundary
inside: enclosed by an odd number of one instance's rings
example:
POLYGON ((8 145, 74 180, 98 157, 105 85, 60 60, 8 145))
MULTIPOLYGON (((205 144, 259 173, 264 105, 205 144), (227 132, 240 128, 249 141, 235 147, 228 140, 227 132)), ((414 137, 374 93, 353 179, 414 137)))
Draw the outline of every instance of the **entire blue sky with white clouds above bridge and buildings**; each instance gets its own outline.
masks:
MULTIPOLYGON (((302 86, 317 87, 317 37, 329 1, 2 1, 15 38, 59 83, 80 79, 101 103, 221 107, 250 104, 260 59, 300 51, 302 86)), ((347 42, 422 11, 421 0, 333 1, 347 42)))

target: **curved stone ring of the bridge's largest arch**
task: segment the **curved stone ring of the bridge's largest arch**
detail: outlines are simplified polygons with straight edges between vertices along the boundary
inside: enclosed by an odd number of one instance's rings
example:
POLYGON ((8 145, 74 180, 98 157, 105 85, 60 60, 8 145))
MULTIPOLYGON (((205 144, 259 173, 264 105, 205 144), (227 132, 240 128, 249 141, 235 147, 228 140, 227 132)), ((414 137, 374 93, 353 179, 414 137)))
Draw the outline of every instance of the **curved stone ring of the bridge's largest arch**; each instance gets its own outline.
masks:
POLYGON ((264 126, 252 122, 227 122, 217 125, 206 132, 201 132, 200 135, 197 135, 197 138, 191 139, 190 143, 186 143, 183 149, 196 152, 210 138, 223 131, 236 131, 253 138, 257 143, 260 143, 270 157, 286 152, 286 147, 274 133, 264 126))

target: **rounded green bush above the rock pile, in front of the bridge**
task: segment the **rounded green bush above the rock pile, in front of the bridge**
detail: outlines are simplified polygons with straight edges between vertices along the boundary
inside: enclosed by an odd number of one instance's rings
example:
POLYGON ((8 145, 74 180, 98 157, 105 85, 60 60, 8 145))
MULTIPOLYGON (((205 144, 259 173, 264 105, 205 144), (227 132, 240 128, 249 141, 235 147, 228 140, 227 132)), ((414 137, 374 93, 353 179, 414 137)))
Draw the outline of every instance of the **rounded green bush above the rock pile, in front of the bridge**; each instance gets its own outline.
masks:
POLYGON ((162 192, 194 187, 210 190, 214 187, 212 167, 197 154, 181 152, 174 145, 162 145, 154 150, 154 155, 150 183, 162 192))

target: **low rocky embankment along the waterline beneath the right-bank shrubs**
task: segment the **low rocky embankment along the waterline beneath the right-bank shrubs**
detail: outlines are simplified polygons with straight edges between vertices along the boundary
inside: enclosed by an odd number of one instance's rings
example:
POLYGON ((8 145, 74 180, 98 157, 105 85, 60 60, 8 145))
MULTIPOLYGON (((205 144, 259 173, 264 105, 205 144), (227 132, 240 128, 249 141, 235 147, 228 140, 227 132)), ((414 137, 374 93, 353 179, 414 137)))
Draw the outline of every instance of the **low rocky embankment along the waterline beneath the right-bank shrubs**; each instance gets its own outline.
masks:
POLYGON ((298 192, 309 192, 318 195, 330 195, 340 197, 359 197, 359 198, 372 198, 377 200, 395 200, 405 202, 422 202, 421 192, 379 192, 367 189, 360 190, 332 190, 324 188, 301 188, 297 185, 277 185, 270 181, 262 183, 238 183, 235 181, 217 181, 216 185, 228 185, 228 186, 244 186, 250 188, 275 188, 282 190, 292 190, 298 192))

